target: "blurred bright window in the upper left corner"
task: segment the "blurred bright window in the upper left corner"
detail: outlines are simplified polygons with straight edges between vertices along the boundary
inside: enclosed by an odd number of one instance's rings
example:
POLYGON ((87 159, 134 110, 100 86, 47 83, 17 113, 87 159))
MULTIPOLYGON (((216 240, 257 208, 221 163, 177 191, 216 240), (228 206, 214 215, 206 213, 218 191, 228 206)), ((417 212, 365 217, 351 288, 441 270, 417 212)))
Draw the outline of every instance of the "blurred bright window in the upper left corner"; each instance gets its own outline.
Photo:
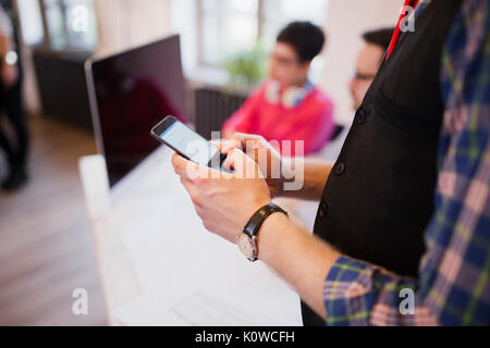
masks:
POLYGON ((97 46, 94 0, 19 0, 24 41, 51 51, 91 51, 97 46))

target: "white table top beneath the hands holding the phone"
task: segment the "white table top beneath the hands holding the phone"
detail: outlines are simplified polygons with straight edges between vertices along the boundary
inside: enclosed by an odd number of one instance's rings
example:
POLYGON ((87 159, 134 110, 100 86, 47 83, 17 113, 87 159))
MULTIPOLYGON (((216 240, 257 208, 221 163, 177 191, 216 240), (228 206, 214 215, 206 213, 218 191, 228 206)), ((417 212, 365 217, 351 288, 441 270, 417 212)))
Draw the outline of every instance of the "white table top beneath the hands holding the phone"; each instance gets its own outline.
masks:
MULTIPOLYGON (((203 227, 171 156, 160 147, 110 194, 103 161, 81 160, 110 323, 301 325, 294 290, 203 227)), ((308 227, 315 206, 298 209, 308 227)))

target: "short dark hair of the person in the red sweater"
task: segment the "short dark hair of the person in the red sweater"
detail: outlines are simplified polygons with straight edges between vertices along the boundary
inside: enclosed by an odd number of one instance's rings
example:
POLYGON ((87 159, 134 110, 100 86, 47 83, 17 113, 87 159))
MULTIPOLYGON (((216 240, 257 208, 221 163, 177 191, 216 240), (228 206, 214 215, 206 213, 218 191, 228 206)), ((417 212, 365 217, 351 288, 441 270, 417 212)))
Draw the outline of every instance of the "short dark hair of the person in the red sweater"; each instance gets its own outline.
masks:
POLYGON ((323 30, 310 22, 292 22, 278 35, 278 42, 291 45, 302 63, 313 61, 321 52, 324 41, 323 30))

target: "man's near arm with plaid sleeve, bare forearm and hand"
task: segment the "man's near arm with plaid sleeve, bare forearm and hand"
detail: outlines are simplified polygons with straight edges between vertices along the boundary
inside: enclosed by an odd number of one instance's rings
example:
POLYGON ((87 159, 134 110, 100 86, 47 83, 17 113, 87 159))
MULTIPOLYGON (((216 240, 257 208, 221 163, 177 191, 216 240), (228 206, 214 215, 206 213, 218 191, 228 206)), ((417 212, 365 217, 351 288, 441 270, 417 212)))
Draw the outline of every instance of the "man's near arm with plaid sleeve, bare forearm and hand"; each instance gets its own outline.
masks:
MULTIPOLYGON (((488 1, 463 2, 444 51, 445 113, 436 207, 416 279, 341 256, 282 214, 272 214, 264 223, 259 259, 292 284, 327 324, 490 324, 488 18, 488 1)), ((233 151, 231 157, 259 171, 243 152, 233 151)), ((223 179, 189 179, 186 166, 196 165, 174 157, 175 172, 183 177, 205 226, 230 241, 254 211, 270 202, 260 177, 222 174, 223 179)))

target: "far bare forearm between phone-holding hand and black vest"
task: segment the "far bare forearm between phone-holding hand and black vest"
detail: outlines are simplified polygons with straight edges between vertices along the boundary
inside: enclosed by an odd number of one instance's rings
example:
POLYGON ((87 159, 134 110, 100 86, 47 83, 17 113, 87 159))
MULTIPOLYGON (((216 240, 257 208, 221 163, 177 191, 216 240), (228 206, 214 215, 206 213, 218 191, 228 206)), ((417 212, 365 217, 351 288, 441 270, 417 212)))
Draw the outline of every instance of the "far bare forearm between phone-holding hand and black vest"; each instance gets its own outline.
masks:
MULTIPOLYGON (((292 174, 290 175, 286 174, 287 178, 285 179, 285 182, 287 183, 293 181, 302 181, 303 185, 301 189, 287 189, 286 186, 284 186, 286 183, 283 183, 283 187, 278 196, 301 198, 306 200, 320 200, 333 163, 320 160, 305 159, 302 169, 297 167, 297 163, 294 164, 294 159, 292 160, 292 163, 285 163, 286 166, 289 165, 289 170, 286 170, 286 172, 292 172, 292 174), (291 178, 293 173, 294 178, 291 178)), ((301 164, 302 163, 299 163, 299 165, 301 164)))

